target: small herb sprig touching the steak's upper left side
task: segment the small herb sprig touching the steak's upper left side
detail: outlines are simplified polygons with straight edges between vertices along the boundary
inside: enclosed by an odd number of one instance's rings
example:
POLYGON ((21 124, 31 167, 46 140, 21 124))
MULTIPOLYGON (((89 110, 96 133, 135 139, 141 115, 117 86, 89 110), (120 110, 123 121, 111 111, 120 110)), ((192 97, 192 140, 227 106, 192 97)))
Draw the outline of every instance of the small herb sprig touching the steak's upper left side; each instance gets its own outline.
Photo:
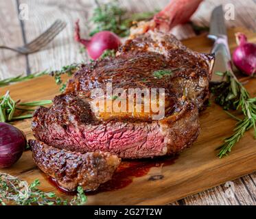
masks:
POLYGON ((60 92, 64 92, 67 86, 67 82, 63 82, 61 76, 67 74, 69 77, 81 68, 83 64, 71 64, 69 66, 63 66, 60 70, 51 71, 49 75, 54 77, 57 85, 60 85, 60 92))

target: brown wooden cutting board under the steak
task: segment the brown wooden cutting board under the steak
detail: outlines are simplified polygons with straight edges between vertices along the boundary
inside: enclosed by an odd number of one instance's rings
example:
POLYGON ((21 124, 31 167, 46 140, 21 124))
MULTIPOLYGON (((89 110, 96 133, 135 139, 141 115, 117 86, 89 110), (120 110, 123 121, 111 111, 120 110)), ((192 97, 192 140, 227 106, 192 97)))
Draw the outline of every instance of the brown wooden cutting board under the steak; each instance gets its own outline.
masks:
MULTIPOLYGON (((230 29, 229 45, 231 51, 236 47, 234 38, 236 31, 243 31, 251 42, 256 42, 256 34, 253 32, 239 28, 230 29)), ((183 43, 191 49, 205 53, 209 53, 212 45, 206 36, 191 38, 183 41, 183 43)), ((248 81, 246 88, 255 96, 256 79, 248 81)), ((10 90, 14 100, 22 99, 22 101, 52 99, 58 94, 58 86, 56 86, 54 79, 49 76, 38 77, 0 89, 1 95, 10 90)), ((160 162, 160 165, 150 168, 148 174, 133 178, 132 183, 124 188, 89 195, 88 204, 167 204, 254 172, 256 170, 256 141, 253 138, 253 131, 246 133, 228 157, 223 159, 216 157, 216 147, 222 144, 224 137, 232 133, 235 121, 221 107, 213 101, 211 103, 211 106, 200 114, 202 129, 198 140, 190 149, 183 151, 172 162, 173 164, 161 165, 160 162)), ((14 123, 16 127, 25 131, 27 139, 33 138, 30 122, 31 120, 23 120, 14 123)), ((29 182, 39 179, 42 190, 54 191, 64 198, 71 198, 71 196, 59 192, 54 185, 45 179, 45 176, 32 161, 30 151, 23 153, 19 162, 12 168, 0 171, 21 177, 21 179, 29 182)))

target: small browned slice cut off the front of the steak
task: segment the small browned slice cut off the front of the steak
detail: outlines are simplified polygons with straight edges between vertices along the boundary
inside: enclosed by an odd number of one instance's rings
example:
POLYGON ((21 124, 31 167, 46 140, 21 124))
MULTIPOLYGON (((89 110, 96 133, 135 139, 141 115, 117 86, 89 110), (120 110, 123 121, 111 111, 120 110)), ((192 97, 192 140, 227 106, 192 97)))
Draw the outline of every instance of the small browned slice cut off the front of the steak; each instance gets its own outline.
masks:
POLYGON ((96 190, 101 183, 111 179, 121 161, 108 152, 76 153, 37 140, 29 140, 28 144, 40 170, 54 177, 67 190, 75 190, 78 185, 84 190, 96 190))

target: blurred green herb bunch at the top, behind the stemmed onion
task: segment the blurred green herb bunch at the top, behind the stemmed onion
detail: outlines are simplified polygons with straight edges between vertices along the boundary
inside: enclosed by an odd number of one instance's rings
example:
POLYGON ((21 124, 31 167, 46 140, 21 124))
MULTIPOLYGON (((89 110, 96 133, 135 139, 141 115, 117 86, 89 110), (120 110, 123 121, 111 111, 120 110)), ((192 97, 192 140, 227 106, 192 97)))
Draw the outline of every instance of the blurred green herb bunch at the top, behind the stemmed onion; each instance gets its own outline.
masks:
POLYGON ((90 36, 103 30, 113 31, 121 37, 128 36, 130 34, 130 27, 134 21, 148 20, 156 13, 156 11, 143 12, 132 14, 130 18, 127 18, 127 10, 121 8, 117 0, 108 3, 100 3, 95 0, 95 3, 97 7, 93 12, 93 18, 91 18, 95 28, 91 31, 90 36))

